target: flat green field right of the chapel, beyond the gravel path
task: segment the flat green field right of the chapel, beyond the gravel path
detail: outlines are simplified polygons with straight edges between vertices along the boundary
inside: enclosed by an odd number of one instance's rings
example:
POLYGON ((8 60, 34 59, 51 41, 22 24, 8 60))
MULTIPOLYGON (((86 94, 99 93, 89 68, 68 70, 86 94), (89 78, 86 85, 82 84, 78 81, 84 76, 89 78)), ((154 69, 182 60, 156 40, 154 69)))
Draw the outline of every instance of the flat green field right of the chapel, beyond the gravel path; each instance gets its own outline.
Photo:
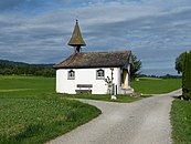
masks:
POLYGON ((159 94, 167 93, 181 88, 180 79, 140 79, 132 81, 131 88, 138 93, 159 94))

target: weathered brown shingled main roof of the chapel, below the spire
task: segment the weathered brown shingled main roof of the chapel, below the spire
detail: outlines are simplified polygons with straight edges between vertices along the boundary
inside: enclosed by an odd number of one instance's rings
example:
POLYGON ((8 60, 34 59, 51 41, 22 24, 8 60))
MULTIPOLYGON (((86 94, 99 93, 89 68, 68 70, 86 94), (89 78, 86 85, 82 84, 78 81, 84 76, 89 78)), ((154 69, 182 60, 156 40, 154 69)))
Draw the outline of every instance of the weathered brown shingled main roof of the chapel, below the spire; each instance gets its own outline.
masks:
POLYGON ((74 53, 54 68, 120 68, 129 62, 130 56, 131 51, 74 53))

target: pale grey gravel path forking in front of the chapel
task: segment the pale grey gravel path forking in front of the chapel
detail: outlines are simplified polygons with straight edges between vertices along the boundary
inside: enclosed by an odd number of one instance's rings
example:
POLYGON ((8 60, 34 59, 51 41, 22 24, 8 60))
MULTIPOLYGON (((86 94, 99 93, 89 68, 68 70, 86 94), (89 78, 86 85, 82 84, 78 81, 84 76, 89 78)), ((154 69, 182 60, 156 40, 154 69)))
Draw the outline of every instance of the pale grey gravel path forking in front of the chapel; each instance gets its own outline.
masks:
POLYGON ((169 112, 179 94, 181 90, 123 104, 81 100, 103 114, 47 144, 170 144, 169 112))

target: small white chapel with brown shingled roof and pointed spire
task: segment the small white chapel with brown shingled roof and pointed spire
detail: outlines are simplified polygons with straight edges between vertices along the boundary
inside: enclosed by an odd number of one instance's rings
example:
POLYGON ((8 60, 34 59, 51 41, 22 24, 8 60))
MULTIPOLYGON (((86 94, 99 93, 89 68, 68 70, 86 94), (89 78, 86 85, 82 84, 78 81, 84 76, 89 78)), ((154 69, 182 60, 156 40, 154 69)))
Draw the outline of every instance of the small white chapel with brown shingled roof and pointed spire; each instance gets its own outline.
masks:
POLYGON ((81 52, 86 43, 77 20, 68 45, 74 48, 74 53, 54 66, 57 93, 106 94, 108 81, 117 94, 131 92, 131 51, 81 52))

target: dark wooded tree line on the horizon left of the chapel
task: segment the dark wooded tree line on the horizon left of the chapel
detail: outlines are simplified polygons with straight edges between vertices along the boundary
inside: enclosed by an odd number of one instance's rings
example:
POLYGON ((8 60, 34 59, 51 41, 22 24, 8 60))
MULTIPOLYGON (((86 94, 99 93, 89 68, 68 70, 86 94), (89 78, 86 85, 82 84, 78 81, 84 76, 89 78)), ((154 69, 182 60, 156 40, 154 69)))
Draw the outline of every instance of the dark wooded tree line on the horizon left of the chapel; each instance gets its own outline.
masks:
POLYGON ((29 64, 23 62, 0 60, 0 74, 55 76, 55 70, 53 69, 53 64, 29 64))

